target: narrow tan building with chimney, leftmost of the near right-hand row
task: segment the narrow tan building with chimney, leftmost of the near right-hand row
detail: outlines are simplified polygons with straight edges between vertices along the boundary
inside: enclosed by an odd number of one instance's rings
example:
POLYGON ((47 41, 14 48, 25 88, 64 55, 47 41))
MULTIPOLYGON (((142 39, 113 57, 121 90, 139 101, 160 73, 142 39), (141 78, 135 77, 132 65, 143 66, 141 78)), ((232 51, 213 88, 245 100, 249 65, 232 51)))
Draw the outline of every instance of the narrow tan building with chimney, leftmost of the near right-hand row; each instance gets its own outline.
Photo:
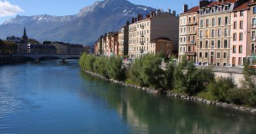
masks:
POLYGON ((187 60, 196 61, 197 46, 197 11, 199 6, 188 9, 188 5, 184 5, 183 13, 179 18, 179 62, 183 56, 187 56, 187 60))

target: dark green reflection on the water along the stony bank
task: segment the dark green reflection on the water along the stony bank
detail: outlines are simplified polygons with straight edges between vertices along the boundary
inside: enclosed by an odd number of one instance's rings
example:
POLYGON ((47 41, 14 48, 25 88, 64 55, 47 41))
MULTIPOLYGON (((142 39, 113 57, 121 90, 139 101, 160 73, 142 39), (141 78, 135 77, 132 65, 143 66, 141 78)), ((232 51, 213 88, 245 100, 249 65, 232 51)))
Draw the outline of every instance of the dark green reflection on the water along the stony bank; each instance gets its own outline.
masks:
POLYGON ((256 117, 220 107, 188 102, 179 98, 148 94, 89 76, 86 91, 106 100, 140 133, 255 133, 256 117))

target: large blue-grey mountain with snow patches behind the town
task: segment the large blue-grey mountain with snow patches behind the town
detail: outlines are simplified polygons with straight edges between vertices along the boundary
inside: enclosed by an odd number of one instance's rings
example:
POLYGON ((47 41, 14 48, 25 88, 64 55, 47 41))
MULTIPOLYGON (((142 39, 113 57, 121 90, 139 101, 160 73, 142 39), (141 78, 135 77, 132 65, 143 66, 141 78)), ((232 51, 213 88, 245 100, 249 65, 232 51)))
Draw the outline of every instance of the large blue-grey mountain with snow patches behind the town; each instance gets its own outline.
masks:
POLYGON ((29 38, 40 42, 94 44, 100 35, 116 31, 138 13, 146 15, 152 10, 156 9, 134 5, 127 0, 104 0, 84 7, 75 15, 17 15, 0 25, 0 38, 22 36, 26 27, 29 38))

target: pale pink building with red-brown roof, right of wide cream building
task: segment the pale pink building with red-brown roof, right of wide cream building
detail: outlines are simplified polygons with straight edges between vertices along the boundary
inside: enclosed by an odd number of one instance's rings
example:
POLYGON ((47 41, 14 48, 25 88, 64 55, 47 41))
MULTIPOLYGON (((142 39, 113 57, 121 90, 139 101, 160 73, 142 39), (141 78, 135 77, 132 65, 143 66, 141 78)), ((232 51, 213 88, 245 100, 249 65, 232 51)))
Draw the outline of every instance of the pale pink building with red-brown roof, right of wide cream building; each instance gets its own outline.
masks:
POLYGON ((247 58, 248 3, 236 7, 231 14, 230 64, 243 65, 247 58))

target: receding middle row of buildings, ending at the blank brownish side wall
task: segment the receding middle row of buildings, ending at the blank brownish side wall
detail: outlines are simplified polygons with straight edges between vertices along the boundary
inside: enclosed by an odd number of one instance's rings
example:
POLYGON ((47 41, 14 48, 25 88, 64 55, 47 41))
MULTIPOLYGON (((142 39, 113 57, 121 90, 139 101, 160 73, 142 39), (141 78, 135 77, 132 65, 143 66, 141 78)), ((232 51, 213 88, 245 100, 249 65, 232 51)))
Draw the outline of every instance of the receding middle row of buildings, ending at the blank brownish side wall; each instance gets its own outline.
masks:
POLYGON ((127 21, 117 32, 100 36, 94 45, 95 54, 102 56, 129 56, 144 54, 178 54, 179 17, 175 11, 151 11, 127 21))

